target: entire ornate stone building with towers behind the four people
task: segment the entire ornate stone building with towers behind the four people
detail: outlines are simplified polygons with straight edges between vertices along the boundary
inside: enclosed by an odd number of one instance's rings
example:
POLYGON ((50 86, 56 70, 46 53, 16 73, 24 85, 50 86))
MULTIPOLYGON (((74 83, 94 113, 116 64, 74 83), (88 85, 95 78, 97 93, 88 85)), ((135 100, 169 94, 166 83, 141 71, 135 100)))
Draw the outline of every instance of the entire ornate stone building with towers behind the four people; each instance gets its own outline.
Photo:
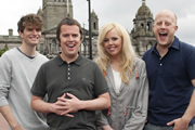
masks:
MULTIPOLYGON (((42 38, 37 47, 37 50, 52 58, 60 51, 61 47, 56 40, 56 26, 66 16, 74 17, 74 6, 72 0, 42 0, 42 9, 39 9, 38 14, 43 17, 42 38)), ((135 18, 133 20, 133 28, 130 32, 133 48, 139 56, 150 49, 155 43, 155 37, 152 30, 153 14, 142 0, 142 5, 139 8, 135 18)), ((89 57, 89 31, 84 27, 83 39, 81 42, 80 52, 89 57)), ((99 17, 94 11, 91 13, 91 30, 92 30, 92 55, 96 55, 96 43, 99 36, 99 17)), ((0 36, 0 49, 5 46, 9 49, 18 47, 22 40, 20 36, 13 36, 13 30, 9 29, 9 36, 0 36)))

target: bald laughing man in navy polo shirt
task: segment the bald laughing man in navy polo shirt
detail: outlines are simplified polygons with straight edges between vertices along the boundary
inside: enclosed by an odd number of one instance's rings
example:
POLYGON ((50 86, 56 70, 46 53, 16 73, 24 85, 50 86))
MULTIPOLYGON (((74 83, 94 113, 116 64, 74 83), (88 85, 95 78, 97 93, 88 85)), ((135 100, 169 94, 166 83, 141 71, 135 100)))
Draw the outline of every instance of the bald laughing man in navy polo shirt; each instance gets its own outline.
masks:
POLYGON ((195 130, 195 48, 180 41, 177 30, 172 11, 156 15, 157 42, 143 55, 150 81, 145 130, 195 130))

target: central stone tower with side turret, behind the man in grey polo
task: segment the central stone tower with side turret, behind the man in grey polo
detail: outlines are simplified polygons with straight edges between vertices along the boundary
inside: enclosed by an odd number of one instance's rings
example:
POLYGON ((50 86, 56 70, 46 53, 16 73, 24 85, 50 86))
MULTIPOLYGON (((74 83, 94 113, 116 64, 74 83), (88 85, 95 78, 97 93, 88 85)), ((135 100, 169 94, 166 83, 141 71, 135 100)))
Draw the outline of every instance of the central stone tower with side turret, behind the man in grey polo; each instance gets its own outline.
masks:
MULTIPOLYGON (((66 16, 74 17, 72 0, 43 0, 42 9, 39 9, 38 14, 43 17, 42 39, 37 47, 37 50, 52 58, 60 51, 60 43, 56 40, 57 24, 66 16)), ((93 36, 93 56, 95 54, 95 40, 99 32, 99 18, 94 11, 91 13, 91 29, 93 36)), ((82 28, 83 40, 81 42, 80 52, 89 57, 89 31, 82 28)))

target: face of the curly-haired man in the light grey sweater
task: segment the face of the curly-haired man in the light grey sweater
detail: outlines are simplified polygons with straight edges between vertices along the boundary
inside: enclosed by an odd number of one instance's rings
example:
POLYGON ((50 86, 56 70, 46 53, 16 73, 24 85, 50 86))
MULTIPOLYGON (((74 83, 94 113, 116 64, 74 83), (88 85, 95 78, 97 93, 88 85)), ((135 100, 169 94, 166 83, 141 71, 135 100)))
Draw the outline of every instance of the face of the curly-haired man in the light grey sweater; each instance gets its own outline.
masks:
POLYGON ((37 26, 26 26, 23 32, 20 31, 20 36, 23 39, 23 43, 34 47, 41 39, 41 29, 37 26))

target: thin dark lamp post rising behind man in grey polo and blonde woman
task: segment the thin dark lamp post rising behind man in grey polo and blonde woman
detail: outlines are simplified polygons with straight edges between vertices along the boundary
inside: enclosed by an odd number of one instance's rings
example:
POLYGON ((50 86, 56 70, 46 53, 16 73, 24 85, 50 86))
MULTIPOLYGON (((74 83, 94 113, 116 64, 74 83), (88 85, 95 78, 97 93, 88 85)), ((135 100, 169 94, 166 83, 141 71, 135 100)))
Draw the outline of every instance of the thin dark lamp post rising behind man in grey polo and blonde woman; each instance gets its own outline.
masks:
POLYGON ((89 5, 89 46, 90 46, 90 60, 92 60, 92 41, 91 41, 91 0, 87 0, 89 5))

